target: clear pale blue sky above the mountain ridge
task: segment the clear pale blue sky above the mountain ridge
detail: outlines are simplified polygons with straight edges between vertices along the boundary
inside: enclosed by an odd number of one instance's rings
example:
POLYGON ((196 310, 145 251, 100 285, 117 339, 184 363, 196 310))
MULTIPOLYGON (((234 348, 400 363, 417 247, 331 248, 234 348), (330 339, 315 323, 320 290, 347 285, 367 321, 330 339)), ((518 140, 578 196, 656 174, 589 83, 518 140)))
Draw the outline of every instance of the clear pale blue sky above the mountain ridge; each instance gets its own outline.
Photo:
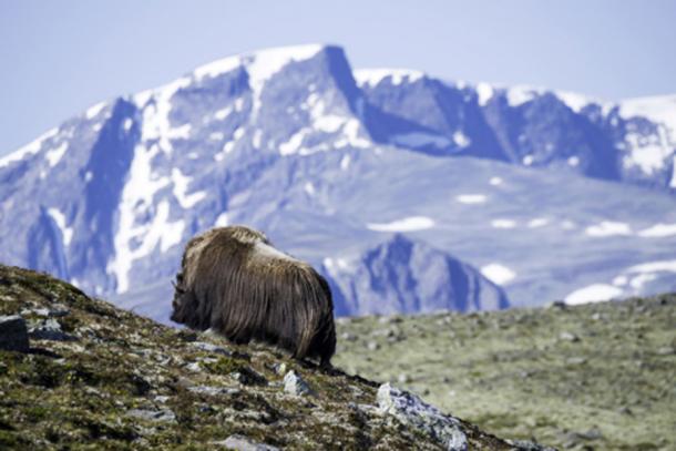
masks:
POLYGON ((676 93, 674 23, 669 0, 0 0, 0 155, 99 101, 287 44, 607 100, 676 93))

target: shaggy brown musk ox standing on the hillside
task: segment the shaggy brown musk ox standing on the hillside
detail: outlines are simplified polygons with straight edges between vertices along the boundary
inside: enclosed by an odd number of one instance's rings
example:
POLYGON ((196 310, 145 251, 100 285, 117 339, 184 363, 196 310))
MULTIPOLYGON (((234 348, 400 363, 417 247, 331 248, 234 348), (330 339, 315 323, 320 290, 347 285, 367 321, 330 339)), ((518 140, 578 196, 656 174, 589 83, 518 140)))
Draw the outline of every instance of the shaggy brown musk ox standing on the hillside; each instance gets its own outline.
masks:
POLYGON ((219 227, 191 239, 174 288, 173 321, 236 344, 277 345, 322 366, 336 351, 325 278, 252 228, 219 227))

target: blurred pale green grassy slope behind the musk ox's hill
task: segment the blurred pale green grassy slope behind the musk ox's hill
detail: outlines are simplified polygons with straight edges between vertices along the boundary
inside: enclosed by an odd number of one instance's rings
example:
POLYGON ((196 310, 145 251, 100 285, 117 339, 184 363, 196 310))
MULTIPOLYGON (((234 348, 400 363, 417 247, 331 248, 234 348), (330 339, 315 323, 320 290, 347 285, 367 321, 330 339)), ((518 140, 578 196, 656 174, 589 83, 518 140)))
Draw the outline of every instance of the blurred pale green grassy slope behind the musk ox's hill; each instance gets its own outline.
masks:
POLYGON ((336 365, 498 435, 563 449, 676 449, 676 295, 354 318, 338 330, 336 365))

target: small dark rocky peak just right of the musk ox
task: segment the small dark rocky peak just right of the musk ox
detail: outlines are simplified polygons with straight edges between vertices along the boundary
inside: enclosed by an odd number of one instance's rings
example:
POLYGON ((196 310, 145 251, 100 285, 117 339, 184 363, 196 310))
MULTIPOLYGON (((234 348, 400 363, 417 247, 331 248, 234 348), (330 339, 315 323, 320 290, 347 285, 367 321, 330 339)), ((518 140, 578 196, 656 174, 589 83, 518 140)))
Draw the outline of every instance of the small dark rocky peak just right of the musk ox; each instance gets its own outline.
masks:
POLYGON ((426 243, 396 234, 354 259, 324 260, 337 315, 506 308, 481 273, 426 243))

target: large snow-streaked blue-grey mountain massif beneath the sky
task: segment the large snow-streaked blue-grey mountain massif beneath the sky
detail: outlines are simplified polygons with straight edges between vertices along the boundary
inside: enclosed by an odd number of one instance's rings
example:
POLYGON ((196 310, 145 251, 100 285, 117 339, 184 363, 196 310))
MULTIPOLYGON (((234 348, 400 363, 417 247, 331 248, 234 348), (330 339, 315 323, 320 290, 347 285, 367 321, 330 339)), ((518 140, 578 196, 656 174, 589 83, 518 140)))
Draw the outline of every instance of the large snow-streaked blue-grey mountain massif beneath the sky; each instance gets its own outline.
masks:
POLYGON ((1 158, 0 260, 160 319, 185 242, 235 223, 324 270, 341 314, 505 306, 479 271, 513 305, 674 289, 674 117, 336 47, 231 57, 1 158))

